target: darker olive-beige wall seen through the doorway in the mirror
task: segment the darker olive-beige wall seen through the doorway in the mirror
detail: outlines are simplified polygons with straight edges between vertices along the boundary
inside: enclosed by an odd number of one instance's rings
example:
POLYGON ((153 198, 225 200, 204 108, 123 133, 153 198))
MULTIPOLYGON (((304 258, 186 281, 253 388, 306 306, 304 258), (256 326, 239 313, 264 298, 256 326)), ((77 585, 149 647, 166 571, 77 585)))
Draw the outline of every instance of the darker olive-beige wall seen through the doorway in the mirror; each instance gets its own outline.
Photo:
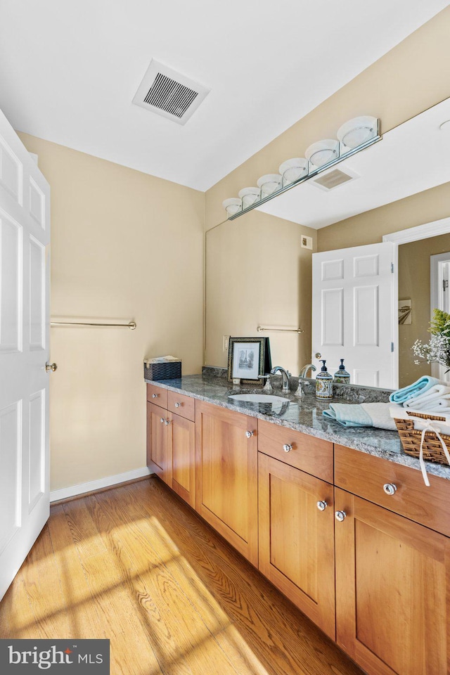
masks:
POLYGON ((450 234, 411 241, 399 246, 399 300, 411 300, 411 324, 399 326, 399 386, 431 375, 426 363, 416 365, 411 346, 430 340, 430 256, 450 251, 450 234))

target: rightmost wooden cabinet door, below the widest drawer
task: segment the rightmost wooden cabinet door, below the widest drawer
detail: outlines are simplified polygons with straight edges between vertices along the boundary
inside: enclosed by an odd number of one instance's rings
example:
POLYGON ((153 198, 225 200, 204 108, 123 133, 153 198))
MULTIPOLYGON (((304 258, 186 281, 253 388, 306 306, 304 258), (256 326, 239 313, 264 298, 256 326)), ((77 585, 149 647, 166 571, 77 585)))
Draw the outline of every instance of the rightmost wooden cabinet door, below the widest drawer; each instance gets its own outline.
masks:
POLYGON ((335 490, 338 644, 370 675, 450 671, 450 539, 335 490))

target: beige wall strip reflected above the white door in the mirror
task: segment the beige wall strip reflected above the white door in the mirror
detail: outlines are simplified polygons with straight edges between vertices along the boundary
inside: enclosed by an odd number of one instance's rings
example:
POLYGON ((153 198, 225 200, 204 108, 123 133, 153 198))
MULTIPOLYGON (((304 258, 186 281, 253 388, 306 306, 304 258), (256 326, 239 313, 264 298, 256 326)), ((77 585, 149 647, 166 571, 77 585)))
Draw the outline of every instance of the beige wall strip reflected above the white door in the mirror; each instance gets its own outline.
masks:
POLYGON ((375 244, 383 235, 449 217, 450 183, 444 183, 317 231, 317 250, 375 244))

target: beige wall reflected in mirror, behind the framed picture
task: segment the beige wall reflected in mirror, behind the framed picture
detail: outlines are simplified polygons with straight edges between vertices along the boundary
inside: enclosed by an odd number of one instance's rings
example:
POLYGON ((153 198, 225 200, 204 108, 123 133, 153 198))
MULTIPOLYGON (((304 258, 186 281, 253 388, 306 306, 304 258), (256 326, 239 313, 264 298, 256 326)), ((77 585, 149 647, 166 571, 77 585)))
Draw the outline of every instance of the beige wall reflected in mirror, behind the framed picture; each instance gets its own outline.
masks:
POLYGON ((316 230, 257 210, 206 233, 206 354, 227 365, 224 335, 270 338, 272 362, 297 375, 311 355, 311 254, 316 230), (304 334, 257 333, 257 326, 304 334))

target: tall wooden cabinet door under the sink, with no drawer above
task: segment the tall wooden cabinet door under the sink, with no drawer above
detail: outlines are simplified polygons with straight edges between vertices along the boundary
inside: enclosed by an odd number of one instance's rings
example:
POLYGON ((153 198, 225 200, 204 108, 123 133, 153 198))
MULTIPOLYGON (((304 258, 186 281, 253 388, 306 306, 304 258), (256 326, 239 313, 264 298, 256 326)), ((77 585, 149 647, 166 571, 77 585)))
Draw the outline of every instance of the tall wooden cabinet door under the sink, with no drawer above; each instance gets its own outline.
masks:
POLYGON ((253 565, 258 564, 257 420, 195 404, 195 508, 253 565), (247 437, 246 432, 252 435, 247 437))

